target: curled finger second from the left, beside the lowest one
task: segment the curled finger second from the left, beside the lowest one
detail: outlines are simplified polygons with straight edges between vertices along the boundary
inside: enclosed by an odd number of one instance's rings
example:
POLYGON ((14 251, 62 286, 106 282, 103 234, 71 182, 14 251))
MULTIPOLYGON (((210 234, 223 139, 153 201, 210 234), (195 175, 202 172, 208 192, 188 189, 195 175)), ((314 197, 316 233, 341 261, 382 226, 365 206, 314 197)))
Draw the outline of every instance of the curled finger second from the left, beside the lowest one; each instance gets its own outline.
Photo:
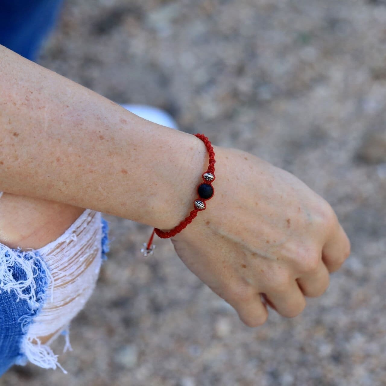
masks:
POLYGON ((299 315, 306 306, 306 300, 296 280, 291 281, 286 288, 272 288, 264 293, 273 308, 287 318, 299 315))

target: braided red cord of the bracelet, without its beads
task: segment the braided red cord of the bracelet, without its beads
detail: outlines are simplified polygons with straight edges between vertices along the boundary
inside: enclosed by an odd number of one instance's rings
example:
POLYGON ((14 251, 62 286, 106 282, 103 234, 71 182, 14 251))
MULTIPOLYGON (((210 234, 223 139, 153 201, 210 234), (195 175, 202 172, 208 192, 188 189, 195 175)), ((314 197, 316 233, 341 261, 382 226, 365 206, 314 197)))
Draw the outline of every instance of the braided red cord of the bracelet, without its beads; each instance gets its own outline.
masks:
MULTIPOLYGON (((215 161, 215 152, 213 151, 213 146, 210 143, 208 137, 205 137, 204 134, 194 134, 194 135, 197 138, 200 138, 201 141, 203 141, 205 143, 205 146, 208 149, 209 166, 208 166, 207 171, 205 171, 204 173, 212 173, 214 176, 215 175, 214 164, 216 163, 216 161, 215 161)), ((203 178, 203 180, 205 181, 206 184, 212 186, 212 182, 215 180, 215 178, 213 178, 212 181, 207 181, 204 178, 203 178)), ((201 183, 198 186, 200 186, 200 185, 201 185, 201 183)), ((197 191, 198 191, 198 186, 197 186, 197 191)), ((212 186, 212 189, 213 189, 213 186, 212 186)), ((213 194, 212 194, 212 196, 210 196, 210 198, 204 199, 204 198, 199 196, 198 200, 202 201, 205 205, 205 201, 210 200, 213 196, 214 196, 214 189, 213 189, 213 194)), ((193 203, 193 206, 194 206, 194 203, 193 203)), ((205 205, 205 207, 206 207, 206 205, 205 205)), ((178 234, 179 232, 181 232, 181 230, 185 229, 186 226, 192 222, 193 218, 195 218, 197 216, 197 212, 200 212, 201 210, 205 210, 205 208, 204 209, 197 209, 196 207, 194 207, 194 209, 190 212, 189 216, 185 218, 185 220, 181 221, 176 227, 174 227, 172 230, 169 230, 168 232, 163 232, 161 229, 154 228, 152 235, 150 236, 149 242, 147 243, 147 249, 151 250, 151 244, 153 241, 154 232, 157 234, 157 236, 161 237, 161 239, 168 239, 169 237, 173 237, 176 234, 178 234)))

